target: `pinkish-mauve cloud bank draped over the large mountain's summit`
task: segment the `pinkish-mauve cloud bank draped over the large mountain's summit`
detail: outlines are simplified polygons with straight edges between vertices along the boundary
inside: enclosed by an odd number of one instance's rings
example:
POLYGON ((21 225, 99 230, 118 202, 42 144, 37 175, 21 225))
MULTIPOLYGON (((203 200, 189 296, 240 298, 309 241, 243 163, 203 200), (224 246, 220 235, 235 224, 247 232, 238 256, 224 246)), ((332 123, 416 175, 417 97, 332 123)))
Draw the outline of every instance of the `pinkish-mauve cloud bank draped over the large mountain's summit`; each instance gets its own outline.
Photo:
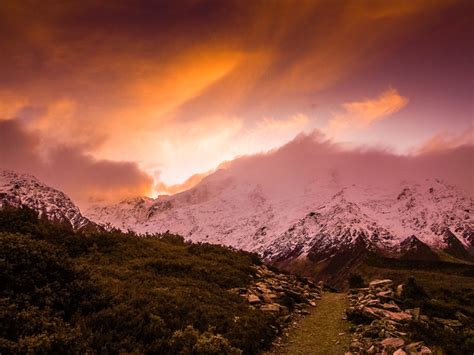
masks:
POLYGON ((216 174, 260 184, 267 193, 278 196, 302 193, 315 182, 335 189, 351 184, 386 189, 424 179, 441 179, 472 195, 473 156, 472 144, 411 156, 346 149, 314 132, 299 135, 275 151, 236 159, 216 174))

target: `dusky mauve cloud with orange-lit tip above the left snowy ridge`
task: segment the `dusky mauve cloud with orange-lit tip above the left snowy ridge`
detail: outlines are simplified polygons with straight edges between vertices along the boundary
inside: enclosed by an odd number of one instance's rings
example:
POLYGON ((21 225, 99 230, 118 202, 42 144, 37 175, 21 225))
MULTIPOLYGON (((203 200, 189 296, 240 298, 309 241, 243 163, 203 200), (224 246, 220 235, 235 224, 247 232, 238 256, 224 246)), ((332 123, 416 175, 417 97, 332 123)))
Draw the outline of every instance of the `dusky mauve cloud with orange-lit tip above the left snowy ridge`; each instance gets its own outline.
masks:
POLYGON ((0 121, 0 169, 32 173, 82 205, 150 194, 153 184, 135 163, 97 160, 77 146, 57 146, 44 157, 38 135, 13 120, 0 121))

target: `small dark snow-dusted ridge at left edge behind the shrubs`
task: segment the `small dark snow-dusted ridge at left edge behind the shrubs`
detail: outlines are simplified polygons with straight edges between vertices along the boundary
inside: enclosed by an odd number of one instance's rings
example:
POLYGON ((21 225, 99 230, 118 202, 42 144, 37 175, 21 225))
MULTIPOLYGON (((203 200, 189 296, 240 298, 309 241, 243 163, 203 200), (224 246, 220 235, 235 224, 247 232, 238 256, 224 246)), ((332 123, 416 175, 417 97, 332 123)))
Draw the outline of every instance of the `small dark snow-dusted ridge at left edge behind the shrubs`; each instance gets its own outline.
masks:
POLYGON ((94 226, 63 192, 32 175, 0 170, 0 209, 5 207, 28 207, 37 211, 40 217, 70 223, 74 230, 94 226))

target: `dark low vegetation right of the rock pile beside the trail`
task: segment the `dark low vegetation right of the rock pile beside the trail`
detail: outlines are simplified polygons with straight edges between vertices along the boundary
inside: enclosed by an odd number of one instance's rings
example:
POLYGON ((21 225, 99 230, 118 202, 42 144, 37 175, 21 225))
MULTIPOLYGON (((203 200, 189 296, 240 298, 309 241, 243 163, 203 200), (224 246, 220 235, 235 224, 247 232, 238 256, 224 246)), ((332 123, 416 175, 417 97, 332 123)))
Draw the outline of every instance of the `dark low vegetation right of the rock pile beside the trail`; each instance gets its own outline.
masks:
POLYGON ((472 328, 446 326, 456 325, 459 320, 463 324, 474 324, 474 266, 471 263, 371 256, 348 282, 352 287, 361 287, 367 281, 380 278, 405 284, 401 297, 403 307, 419 308, 421 314, 428 317, 427 322, 411 324, 412 338, 446 354, 472 354, 472 328))

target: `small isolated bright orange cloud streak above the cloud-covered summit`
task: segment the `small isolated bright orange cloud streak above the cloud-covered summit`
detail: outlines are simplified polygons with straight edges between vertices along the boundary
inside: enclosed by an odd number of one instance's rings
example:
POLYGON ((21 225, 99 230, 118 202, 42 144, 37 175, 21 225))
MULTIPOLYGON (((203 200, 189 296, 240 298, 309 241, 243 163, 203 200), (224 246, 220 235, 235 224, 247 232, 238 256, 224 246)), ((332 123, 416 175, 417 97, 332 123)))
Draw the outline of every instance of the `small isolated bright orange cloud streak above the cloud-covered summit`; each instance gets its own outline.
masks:
POLYGON ((329 131, 366 127, 400 111, 408 104, 408 98, 397 90, 388 89, 375 99, 343 104, 344 112, 335 114, 329 121, 329 131))

